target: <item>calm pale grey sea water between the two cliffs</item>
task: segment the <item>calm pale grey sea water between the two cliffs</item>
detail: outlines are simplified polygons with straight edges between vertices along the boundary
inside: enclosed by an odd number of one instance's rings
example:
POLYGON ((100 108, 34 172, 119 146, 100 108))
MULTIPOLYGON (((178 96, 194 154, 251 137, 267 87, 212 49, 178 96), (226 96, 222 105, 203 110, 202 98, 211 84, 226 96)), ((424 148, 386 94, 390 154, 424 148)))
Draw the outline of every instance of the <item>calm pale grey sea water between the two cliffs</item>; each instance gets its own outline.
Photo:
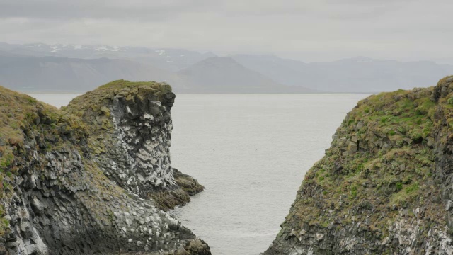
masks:
MULTIPOLYGON (((75 95, 33 95, 57 107, 75 95)), ((173 213, 212 254, 259 254, 357 94, 178 95, 173 167, 206 190, 173 213)))

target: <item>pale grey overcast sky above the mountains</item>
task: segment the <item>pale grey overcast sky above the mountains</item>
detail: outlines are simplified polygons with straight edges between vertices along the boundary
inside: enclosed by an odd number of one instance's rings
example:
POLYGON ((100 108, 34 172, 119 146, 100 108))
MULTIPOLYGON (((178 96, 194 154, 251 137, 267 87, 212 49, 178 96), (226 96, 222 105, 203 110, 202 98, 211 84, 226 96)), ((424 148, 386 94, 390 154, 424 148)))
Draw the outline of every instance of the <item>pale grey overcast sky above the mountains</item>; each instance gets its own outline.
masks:
POLYGON ((453 57, 452 10, 452 0, 0 0, 0 42, 434 60, 453 57))

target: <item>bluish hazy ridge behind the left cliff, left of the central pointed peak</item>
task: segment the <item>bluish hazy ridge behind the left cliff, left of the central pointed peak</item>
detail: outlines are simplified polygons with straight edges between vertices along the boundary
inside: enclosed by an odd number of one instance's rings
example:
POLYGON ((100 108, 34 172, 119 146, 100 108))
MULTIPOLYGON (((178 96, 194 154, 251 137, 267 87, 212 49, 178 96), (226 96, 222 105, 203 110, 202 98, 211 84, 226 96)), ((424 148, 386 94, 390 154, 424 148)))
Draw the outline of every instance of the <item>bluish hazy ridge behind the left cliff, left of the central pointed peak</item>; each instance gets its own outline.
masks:
POLYGON ((0 52, 0 84, 20 91, 88 91, 115 79, 164 81, 171 72, 130 60, 31 57, 0 52))

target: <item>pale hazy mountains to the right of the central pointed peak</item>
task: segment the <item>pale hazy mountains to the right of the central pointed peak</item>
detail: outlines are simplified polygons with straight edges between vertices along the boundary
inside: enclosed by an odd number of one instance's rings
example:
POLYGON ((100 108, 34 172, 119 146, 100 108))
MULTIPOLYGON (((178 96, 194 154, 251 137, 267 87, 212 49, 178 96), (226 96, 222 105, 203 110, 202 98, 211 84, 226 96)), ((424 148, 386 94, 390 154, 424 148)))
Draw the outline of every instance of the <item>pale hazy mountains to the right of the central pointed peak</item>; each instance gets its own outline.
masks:
POLYGON ((304 63, 272 55, 231 55, 249 69, 291 86, 333 92, 380 92, 435 85, 453 66, 430 61, 398 62, 353 57, 304 63))

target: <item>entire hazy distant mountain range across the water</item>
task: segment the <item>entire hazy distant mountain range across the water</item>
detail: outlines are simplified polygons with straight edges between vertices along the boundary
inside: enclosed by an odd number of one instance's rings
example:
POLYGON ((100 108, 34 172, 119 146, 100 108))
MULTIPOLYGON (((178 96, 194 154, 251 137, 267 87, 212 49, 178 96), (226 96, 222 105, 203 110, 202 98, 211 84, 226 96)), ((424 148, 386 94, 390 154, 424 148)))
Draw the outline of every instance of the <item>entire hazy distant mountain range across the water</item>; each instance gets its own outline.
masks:
POLYGON ((432 86, 453 65, 354 57, 304 63, 147 47, 0 43, 0 85, 83 92, 115 79, 167 81, 177 93, 374 93, 432 86))

